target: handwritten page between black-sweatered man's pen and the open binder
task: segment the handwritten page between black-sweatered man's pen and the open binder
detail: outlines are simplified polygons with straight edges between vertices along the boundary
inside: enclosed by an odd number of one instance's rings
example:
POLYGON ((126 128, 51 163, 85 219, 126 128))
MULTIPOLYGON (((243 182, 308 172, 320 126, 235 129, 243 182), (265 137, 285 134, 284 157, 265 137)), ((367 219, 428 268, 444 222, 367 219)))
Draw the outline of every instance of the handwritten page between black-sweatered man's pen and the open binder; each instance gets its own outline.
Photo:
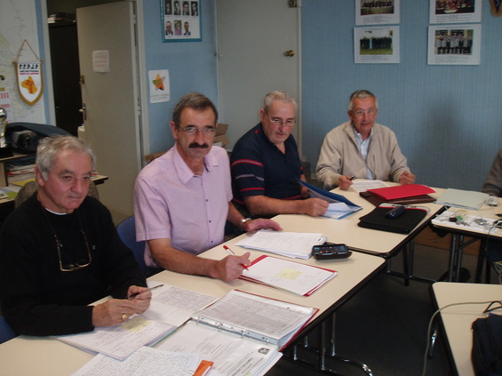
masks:
MULTIPOLYGON (((161 282, 149 281, 152 287, 161 282)), ((199 292, 191 292, 171 284, 163 284, 162 287, 152 291, 150 307, 141 316, 152 320, 179 326, 185 323, 195 312, 209 306, 218 298, 199 292)))

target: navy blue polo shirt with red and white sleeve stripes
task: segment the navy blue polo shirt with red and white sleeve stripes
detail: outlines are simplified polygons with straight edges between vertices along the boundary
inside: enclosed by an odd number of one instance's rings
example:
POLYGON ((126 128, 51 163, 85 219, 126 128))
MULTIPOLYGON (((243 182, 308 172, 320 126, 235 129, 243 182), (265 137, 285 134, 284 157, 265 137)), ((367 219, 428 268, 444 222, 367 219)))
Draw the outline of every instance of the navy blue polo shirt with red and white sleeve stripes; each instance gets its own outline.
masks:
POLYGON ((302 198, 298 182, 302 166, 292 135, 284 141, 284 146, 285 154, 267 139, 261 123, 237 141, 230 158, 235 204, 245 206, 246 196, 302 198))

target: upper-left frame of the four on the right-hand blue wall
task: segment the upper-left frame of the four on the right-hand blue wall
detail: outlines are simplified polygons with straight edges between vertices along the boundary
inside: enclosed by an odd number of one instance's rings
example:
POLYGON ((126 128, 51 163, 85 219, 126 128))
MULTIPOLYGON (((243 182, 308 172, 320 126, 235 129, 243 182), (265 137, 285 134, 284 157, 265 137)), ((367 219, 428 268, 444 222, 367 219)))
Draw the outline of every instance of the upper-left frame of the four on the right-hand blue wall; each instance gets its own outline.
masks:
POLYGON ((400 23, 401 0, 355 0, 355 25, 400 23))

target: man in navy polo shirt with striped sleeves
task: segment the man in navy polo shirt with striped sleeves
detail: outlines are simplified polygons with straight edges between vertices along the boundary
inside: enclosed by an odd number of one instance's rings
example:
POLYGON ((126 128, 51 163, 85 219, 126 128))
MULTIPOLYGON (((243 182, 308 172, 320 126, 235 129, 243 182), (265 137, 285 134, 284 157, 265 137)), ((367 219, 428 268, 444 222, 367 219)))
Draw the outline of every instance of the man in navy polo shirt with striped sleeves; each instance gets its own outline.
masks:
POLYGON ((230 160, 234 204, 251 216, 295 213, 323 215, 328 203, 307 198, 308 190, 291 135, 296 101, 286 92, 269 92, 259 111, 260 123, 237 141, 230 160))

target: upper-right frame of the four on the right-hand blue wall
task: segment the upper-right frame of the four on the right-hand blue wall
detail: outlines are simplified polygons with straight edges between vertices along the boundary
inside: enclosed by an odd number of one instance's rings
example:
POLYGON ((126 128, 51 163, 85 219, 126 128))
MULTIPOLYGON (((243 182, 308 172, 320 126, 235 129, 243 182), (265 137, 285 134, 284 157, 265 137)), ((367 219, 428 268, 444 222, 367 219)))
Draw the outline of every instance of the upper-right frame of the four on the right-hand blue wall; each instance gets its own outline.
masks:
POLYGON ((429 1, 429 23, 481 22, 482 0, 429 1))

